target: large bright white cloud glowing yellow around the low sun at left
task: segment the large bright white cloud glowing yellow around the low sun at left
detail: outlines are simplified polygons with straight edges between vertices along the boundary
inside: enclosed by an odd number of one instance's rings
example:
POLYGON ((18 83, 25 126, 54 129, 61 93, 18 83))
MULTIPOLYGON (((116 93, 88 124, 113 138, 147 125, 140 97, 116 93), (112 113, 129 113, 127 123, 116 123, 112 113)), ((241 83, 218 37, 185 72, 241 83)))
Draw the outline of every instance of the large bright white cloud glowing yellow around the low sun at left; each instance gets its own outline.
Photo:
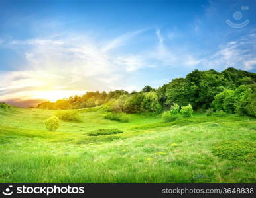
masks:
POLYGON ((4 98, 52 97, 54 90, 62 97, 86 90, 134 88, 125 83, 127 73, 146 67, 140 55, 111 55, 110 51, 125 44, 143 30, 119 36, 99 46, 88 36, 62 38, 34 38, 15 40, 12 48, 24 50, 26 64, 21 71, 0 74, 0 90, 4 98), (110 50, 111 49, 111 50, 110 50), (125 80, 123 80, 125 77, 125 80), (66 91, 66 92, 65 92, 66 91), (73 92, 72 92, 73 91, 73 92), (40 94, 40 92, 44 94, 40 94))

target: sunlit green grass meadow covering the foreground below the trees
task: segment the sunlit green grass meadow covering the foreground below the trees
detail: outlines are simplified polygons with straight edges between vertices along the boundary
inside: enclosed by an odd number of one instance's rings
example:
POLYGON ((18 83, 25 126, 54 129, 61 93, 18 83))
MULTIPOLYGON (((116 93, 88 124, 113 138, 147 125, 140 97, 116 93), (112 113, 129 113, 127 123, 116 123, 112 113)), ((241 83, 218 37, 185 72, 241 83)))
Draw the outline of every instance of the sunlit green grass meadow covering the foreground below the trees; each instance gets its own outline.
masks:
POLYGON ((128 123, 78 110, 80 122, 55 110, 0 110, 0 183, 255 183, 256 119, 230 115, 162 123, 160 115, 130 114, 128 123), (97 129, 123 133, 88 135, 97 129), (110 130, 111 131, 111 130, 110 130))

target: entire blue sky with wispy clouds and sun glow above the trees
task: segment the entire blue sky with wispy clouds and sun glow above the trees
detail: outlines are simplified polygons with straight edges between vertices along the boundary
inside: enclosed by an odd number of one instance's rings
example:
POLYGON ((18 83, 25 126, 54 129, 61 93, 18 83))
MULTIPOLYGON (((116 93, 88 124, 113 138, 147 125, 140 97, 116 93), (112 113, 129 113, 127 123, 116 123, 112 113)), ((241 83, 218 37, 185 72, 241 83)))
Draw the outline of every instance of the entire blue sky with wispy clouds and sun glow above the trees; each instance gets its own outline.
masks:
POLYGON ((255 9, 255 0, 1 0, 0 100, 157 88, 194 69, 255 72, 255 9))

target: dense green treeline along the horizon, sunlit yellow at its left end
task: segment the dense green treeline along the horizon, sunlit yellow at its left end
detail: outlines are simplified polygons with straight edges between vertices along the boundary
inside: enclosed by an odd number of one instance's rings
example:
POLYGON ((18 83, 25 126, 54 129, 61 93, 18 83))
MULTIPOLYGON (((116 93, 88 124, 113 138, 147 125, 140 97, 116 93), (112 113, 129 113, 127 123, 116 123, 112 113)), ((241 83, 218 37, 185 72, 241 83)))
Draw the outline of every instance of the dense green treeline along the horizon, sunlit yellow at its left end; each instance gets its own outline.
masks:
POLYGON ((157 89, 145 86, 140 92, 125 90, 87 92, 38 108, 76 109, 103 105, 113 112, 162 112, 174 103, 194 110, 213 108, 229 114, 256 116, 256 74, 229 67, 222 72, 194 70, 185 78, 173 79, 157 89))

